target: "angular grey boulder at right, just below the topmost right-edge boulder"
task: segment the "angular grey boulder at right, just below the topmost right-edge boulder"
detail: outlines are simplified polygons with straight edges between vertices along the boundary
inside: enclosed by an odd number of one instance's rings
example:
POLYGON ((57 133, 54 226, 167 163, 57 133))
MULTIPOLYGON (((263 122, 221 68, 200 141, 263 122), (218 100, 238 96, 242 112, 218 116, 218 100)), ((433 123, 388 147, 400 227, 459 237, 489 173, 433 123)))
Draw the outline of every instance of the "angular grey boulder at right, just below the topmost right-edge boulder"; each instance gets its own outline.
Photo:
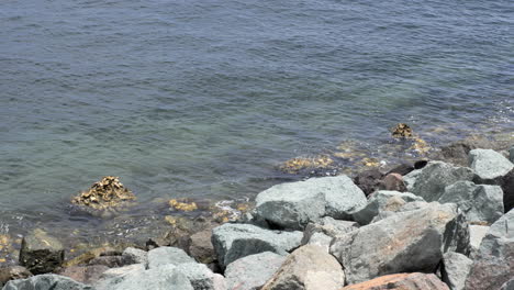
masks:
POLYGON ((457 203, 469 222, 494 223, 503 215, 503 191, 499 186, 457 181, 445 188, 440 203, 457 203))

